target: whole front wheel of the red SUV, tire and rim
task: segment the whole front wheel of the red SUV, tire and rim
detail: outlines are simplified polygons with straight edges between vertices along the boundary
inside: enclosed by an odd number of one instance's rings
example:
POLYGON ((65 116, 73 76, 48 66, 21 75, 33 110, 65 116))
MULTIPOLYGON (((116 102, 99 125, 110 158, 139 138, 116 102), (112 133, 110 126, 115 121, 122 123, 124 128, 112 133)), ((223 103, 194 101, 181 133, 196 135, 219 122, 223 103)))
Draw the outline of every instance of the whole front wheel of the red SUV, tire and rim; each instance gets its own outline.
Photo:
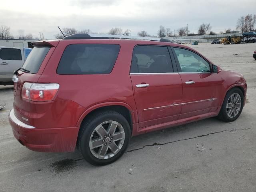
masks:
POLYGON ((244 94, 239 88, 233 88, 226 94, 218 118, 225 122, 236 120, 244 106, 244 94))

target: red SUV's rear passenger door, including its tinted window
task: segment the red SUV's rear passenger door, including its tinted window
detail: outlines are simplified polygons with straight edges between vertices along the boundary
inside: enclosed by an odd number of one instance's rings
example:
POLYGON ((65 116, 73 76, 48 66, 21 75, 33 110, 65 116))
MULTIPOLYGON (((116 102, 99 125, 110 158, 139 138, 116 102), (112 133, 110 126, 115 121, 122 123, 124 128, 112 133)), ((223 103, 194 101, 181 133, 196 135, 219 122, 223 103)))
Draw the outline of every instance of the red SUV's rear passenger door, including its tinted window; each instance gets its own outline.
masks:
POLYGON ((130 77, 140 128, 178 119, 182 81, 167 46, 136 46, 130 77))

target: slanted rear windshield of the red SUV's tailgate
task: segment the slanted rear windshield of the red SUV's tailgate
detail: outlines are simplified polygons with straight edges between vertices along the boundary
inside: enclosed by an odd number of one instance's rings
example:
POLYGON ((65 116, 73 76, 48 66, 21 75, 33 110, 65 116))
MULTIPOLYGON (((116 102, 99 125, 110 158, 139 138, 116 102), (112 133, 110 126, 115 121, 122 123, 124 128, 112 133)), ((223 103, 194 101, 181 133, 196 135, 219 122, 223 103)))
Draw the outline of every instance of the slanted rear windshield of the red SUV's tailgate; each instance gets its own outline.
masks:
POLYGON ((23 64, 30 73, 37 73, 50 47, 34 47, 23 64))

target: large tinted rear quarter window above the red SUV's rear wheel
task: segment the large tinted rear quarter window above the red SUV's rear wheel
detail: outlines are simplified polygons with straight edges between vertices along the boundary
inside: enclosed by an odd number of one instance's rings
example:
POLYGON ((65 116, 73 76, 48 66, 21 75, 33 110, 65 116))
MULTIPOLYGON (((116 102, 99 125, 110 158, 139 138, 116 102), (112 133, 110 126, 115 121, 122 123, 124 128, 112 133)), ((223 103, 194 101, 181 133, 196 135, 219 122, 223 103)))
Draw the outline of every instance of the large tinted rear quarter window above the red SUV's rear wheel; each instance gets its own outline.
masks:
POLYGON ((109 74, 120 50, 117 44, 72 44, 66 47, 58 74, 109 74))

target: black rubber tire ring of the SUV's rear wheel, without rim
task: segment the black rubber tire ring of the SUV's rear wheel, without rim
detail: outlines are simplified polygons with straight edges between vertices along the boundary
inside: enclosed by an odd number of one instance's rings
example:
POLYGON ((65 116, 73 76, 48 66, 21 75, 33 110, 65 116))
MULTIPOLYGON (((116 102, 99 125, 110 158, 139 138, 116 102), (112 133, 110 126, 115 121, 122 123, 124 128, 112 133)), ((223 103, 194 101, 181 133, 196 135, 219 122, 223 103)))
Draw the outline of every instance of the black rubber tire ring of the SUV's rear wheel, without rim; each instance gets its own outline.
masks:
POLYGON ((79 131, 79 135, 78 135, 78 148, 82 156, 87 162, 89 162, 92 165, 102 166, 118 160, 124 154, 130 142, 130 137, 131 137, 130 125, 126 120, 126 118, 124 118, 124 116, 122 116, 121 114, 115 111, 99 112, 97 114, 90 116, 90 118, 86 120, 86 122, 82 123, 79 131), (90 147, 89 147, 90 138, 92 133, 94 132, 94 129, 98 125, 100 125, 103 122, 111 121, 111 120, 116 121, 122 125, 125 133, 124 144, 120 149, 120 151, 114 156, 112 156, 111 158, 100 159, 95 157, 90 151, 90 147))

